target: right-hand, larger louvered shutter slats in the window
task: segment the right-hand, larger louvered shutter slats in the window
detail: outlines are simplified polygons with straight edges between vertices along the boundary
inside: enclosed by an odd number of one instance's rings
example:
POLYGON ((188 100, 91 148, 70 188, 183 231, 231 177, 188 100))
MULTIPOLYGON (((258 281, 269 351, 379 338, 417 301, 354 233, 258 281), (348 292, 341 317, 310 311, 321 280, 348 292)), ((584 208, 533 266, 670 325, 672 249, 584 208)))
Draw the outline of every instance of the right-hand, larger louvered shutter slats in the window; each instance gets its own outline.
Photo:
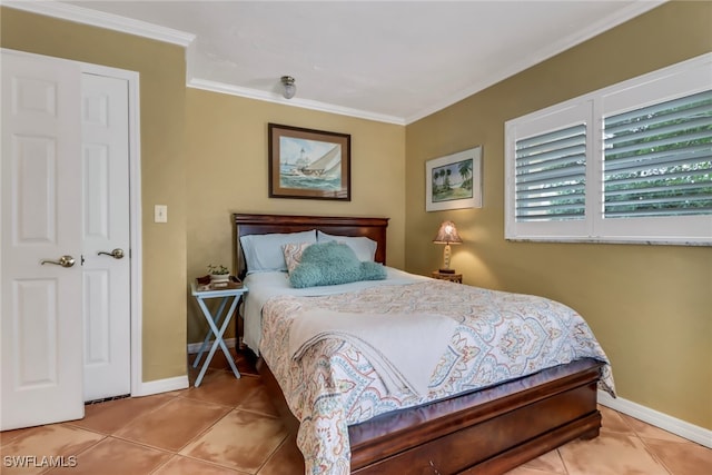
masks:
POLYGON ((712 90, 604 118, 604 218, 712 214, 712 90))

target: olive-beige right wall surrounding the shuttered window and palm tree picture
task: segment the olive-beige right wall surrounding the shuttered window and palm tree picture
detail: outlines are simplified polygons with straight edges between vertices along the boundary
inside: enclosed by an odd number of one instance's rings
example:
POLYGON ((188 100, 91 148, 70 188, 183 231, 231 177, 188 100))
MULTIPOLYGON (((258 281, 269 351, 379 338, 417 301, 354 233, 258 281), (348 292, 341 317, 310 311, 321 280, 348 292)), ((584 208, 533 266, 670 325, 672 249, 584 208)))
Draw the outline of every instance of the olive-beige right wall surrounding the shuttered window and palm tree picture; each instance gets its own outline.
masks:
POLYGON ((589 321, 621 397, 712 428, 712 248, 504 240, 504 122, 712 50, 712 3, 672 2, 406 128, 406 269, 558 299, 589 321), (484 146, 484 207, 425 212, 425 161, 484 146))

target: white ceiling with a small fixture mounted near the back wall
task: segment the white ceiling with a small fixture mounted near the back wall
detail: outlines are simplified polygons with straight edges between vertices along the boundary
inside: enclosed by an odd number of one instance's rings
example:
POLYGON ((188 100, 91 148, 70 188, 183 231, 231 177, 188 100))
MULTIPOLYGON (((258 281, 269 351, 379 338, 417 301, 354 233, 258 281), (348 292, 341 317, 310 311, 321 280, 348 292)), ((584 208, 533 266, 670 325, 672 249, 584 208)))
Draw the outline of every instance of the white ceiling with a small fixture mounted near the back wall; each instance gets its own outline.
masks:
POLYGON ((184 44, 190 87, 405 125, 662 2, 3 3, 184 44))

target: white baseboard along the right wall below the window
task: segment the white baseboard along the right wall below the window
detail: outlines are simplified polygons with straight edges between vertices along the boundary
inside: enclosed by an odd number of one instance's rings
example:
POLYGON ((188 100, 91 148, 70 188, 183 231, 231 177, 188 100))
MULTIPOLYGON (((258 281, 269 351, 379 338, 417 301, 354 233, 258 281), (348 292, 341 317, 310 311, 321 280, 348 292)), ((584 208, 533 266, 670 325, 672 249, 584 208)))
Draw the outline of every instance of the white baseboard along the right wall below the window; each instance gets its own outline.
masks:
POLYGON ((684 437, 689 441, 696 442, 700 445, 712 448, 712 431, 695 426, 668 414, 659 413, 650 407, 626 400, 621 397, 613 398, 603 390, 599 390, 599 403, 610 407, 619 413, 626 414, 636 419, 641 419, 647 424, 660 427, 664 431, 684 437))

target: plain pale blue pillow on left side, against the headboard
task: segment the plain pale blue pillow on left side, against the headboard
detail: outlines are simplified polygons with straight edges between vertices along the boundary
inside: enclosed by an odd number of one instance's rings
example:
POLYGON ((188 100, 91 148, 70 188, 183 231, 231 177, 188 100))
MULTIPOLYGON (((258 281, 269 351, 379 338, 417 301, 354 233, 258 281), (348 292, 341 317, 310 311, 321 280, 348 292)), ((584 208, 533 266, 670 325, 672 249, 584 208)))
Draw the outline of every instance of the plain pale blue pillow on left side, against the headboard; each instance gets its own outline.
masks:
POLYGON ((248 273, 286 271, 283 246, 289 243, 316 243, 314 229, 301 232, 248 235, 240 237, 248 273))

